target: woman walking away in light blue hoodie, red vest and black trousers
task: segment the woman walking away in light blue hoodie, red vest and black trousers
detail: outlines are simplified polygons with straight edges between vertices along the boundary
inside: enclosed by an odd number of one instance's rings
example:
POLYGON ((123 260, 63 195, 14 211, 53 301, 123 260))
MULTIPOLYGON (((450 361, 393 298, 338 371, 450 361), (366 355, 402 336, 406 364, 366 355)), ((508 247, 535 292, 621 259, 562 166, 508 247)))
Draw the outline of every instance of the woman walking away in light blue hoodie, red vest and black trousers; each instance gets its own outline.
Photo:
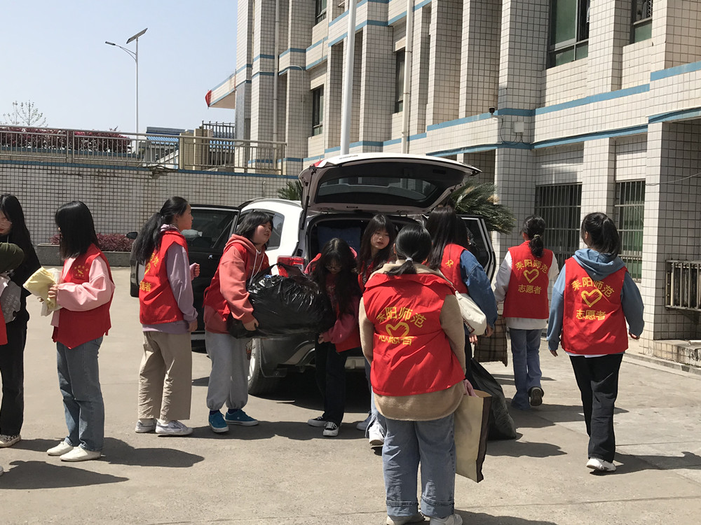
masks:
POLYGON ((587 468, 613 472, 618 372, 628 336, 638 339, 643 332, 643 300, 618 257, 620 237, 611 218, 588 214, 581 235, 587 248, 565 261, 552 289, 547 341, 557 356, 562 335, 582 394, 587 468))

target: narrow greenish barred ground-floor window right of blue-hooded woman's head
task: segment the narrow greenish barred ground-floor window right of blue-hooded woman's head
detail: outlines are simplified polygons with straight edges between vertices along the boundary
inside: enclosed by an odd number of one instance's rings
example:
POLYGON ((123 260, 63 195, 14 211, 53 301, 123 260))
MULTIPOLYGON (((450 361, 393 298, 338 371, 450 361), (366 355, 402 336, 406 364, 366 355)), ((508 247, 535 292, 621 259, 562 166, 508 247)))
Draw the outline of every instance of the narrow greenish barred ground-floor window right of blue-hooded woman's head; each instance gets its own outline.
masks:
POLYGON ((620 235, 620 258, 630 276, 639 281, 643 273, 643 211, 645 181, 615 185, 615 225, 620 235))

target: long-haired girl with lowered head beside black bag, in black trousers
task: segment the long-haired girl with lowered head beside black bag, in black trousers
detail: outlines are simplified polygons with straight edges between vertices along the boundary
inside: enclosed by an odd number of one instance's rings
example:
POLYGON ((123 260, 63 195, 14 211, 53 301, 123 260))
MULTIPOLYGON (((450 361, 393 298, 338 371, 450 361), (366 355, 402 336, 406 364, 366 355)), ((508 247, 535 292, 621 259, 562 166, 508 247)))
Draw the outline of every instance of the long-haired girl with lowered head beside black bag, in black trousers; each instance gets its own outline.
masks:
POLYGON ((338 237, 328 241, 307 272, 324 290, 336 314, 332 328, 319 334, 314 345, 316 384, 324 400, 324 413, 307 423, 324 427, 323 435, 339 435, 346 412, 346 351, 360 348, 358 305, 360 287, 355 253, 338 237))

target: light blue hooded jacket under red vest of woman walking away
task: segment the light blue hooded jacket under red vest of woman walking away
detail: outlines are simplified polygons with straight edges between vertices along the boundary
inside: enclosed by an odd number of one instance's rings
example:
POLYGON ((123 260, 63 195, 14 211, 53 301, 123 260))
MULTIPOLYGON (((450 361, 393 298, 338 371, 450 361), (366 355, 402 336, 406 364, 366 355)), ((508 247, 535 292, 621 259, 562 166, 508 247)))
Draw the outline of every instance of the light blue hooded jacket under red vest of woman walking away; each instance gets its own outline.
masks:
MULTIPOLYGON (((618 272, 619 269, 625 266, 620 257, 612 258, 608 253, 599 253, 591 248, 577 250, 573 258, 594 281, 601 281, 604 277, 613 274, 613 272, 618 272)), ((550 320, 547 323, 547 347, 550 350, 557 350, 560 344, 562 312, 564 309, 565 269, 566 266, 562 265, 557 281, 555 281, 555 285, 552 288, 550 320)), ((625 315, 625 320, 628 323, 628 331, 633 335, 640 335, 643 332, 644 325, 643 300, 638 287, 628 272, 626 272, 625 279, 623 279, 620 302, 623 308, 623 315, 625 315)))

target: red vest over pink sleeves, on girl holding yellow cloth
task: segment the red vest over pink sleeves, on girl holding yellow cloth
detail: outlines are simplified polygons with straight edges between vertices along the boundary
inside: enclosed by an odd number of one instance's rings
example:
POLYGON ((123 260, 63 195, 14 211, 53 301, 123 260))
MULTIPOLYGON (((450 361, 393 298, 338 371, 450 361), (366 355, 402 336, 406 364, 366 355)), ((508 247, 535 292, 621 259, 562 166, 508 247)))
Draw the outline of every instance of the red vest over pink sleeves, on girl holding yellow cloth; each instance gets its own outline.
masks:
MULTIPOLYGON (((97 248, 95 244, 90 244, 88 251, 73 261, 64 283, 82 284, 90 281, 90 267, 97 257, 101 257, 107 264, 107 275, 112 281, 112 272, 109 269, 107 258, 100 251, 100 248, 97 248)), ((58 317, 58 326, 53 328, 54 342, 64 344, 72 349, 107 335, 109 328, 111 328, 109 323, 110 304, 112 304, 112 297, 109 298, 109 302, 91 310, 72 311, 62 308, 58 317)))

